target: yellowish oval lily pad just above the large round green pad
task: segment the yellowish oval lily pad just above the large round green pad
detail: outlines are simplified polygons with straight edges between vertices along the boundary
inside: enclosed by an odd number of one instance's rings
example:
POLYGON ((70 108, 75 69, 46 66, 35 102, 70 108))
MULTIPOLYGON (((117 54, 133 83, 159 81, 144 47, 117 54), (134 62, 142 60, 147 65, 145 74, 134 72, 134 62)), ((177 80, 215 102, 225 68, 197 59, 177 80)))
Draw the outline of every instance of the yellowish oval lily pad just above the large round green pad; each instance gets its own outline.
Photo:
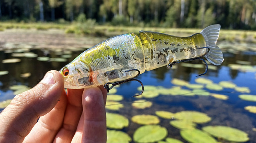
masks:
POLYGON ((131 118, 132 122, 141 124, 141 125, 149 125, 149 124, 158 124, 160 122, 159 118, 154 115, 136 115, 131 118))

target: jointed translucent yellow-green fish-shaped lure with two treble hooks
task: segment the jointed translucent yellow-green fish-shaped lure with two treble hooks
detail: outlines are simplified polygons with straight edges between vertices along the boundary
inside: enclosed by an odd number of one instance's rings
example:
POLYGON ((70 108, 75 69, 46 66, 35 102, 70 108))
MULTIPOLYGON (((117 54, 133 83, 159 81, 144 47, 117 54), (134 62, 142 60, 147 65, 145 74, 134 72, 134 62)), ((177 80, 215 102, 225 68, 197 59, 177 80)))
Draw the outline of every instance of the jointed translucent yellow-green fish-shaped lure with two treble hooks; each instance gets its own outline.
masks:
MULTIPOLYGON (((172 68, 175 63, 202 60, 220 65, 223 55, 216 42, 220 25, 211 25, 189 37, 177 37, 163 33, 140 31, 139 36, 128 33, 111 37, 87 49, 60 70, 64 87, 80 89, 104 85, 109 91, 116 85, 138 81, 135 79, 145 70, 162 66, 172 68), (110 86, 111 85, 111 86, 110 86)), ((199 75, 199 76, 200 76, 199 75)), ((138 96, 135 95, 135 96, 138 96)))

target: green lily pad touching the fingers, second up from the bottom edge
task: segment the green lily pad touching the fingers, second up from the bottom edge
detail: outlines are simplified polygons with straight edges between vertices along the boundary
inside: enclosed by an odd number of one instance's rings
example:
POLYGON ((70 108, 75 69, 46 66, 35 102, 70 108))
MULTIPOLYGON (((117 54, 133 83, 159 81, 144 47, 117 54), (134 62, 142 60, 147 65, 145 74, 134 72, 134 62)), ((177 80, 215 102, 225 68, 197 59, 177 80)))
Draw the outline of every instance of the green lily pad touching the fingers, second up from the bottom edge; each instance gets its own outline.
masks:
POLYGON ((112 129, 123 129, 129 126, 129 120, 122 115, 106 112, 107 127, 112 129))

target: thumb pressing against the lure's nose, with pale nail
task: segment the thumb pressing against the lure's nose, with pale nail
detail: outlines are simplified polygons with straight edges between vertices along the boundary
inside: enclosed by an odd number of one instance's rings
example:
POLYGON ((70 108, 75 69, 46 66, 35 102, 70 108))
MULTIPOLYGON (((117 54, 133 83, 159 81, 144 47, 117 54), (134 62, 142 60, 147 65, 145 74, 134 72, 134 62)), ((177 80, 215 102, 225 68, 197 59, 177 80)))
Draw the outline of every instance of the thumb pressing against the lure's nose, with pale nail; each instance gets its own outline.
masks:
POLYGON ((0 143, 22 142, 37 119, 56 105, 63 88, 62 75, 49 71, 34 88, 16 95, 0 114, 0 143))

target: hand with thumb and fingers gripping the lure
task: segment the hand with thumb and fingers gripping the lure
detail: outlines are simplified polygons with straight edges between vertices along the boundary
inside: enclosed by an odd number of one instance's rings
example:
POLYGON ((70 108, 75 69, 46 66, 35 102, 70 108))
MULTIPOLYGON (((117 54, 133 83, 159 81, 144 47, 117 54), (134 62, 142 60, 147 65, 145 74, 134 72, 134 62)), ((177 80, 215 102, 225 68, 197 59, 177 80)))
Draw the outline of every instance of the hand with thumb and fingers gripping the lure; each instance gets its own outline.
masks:
POLYGON ((0 113, 0 143, 106 143, 106 97, 103 86, 66 93, 49 71, 0 113))

